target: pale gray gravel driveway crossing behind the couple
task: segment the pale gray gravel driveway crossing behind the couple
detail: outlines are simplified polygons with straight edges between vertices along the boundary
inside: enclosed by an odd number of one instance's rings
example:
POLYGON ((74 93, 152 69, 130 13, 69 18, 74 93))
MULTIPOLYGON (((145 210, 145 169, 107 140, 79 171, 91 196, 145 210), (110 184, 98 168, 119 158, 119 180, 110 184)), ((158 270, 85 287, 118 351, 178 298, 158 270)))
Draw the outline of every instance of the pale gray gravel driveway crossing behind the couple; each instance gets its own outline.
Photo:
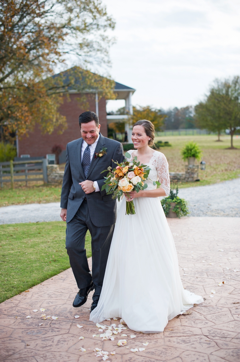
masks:
MULTIPOLYGON (((240 217, 240 178, 179 190, 190 216, 240 217)), ((0 207, 0 224, 60 221, 60 202, 0 207)))

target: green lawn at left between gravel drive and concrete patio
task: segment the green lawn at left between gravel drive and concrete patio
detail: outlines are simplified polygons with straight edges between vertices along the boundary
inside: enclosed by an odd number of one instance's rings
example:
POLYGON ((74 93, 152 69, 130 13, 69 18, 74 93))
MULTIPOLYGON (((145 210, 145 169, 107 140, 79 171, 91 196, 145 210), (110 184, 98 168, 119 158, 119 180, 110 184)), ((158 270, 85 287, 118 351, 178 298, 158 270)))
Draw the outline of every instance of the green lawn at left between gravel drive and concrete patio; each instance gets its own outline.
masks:
MULTIPOLYGON (((70 268, 66 223, 0 225, 0 303, 70 268)), ((91 256, 91 236, 85 248, 91 256)))

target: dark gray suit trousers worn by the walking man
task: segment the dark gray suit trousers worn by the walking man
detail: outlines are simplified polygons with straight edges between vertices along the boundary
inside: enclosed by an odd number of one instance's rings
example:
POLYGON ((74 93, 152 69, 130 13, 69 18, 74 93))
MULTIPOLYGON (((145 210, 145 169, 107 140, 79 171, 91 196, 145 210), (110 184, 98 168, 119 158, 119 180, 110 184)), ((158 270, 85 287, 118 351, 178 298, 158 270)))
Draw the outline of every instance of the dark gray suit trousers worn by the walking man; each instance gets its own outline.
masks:
POLYGON ((66 249, 74 277, 79 289, 93 281, 95 292, 93 300, 98 300, 104 279, 109 249, 112 241, 114 224, 97 227, 90 219, 87 200, 84 199, 73 219, 67 223, 66 249), (92 237, 92 277, 89 273, 86 256, 85 237, 87 230, 92 237))

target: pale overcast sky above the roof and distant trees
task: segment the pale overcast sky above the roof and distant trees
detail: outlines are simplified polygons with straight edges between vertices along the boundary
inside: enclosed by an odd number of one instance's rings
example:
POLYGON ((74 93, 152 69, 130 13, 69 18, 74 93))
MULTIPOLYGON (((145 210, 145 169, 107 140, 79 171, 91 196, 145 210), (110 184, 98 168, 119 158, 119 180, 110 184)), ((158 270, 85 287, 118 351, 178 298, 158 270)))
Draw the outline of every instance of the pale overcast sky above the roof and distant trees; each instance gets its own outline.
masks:
MULTIPOLYGON (((239 0, 103 0, 116 21, 110 74, 133 105, 195 105, 215 78, 240 75, 239 0)), ((122 106, 110 101, 108 110, 122 106)))

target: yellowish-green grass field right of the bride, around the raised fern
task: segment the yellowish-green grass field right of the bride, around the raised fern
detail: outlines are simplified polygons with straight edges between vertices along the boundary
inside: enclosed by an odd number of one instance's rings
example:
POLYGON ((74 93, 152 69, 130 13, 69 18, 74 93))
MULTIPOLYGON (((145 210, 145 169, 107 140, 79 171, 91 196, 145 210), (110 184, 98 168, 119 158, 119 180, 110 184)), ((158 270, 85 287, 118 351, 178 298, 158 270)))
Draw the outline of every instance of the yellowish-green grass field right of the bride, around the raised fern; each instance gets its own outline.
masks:
MULTIPOLYGON (((223 135, 223 142, 215 142, 215 135, 189 135, 189 136, 162 136, 155 140, 169 141, 173 147, 160 149, 167 157, 170 172, 185 172, 184 162, 180 150, 189 141, 197 142, 202 149, 202 160, 206 162, 206 170, 199 170, 199 182, 187 182, 179 185, 179 188, 209 185, 217 182, 231 180, 240 177, 240 136, 234 136, 234 146, 237 150, 226 150, 230 147, 230 136, 223 135)), ((196 163, 197 164, 197 161, 196 163)))

